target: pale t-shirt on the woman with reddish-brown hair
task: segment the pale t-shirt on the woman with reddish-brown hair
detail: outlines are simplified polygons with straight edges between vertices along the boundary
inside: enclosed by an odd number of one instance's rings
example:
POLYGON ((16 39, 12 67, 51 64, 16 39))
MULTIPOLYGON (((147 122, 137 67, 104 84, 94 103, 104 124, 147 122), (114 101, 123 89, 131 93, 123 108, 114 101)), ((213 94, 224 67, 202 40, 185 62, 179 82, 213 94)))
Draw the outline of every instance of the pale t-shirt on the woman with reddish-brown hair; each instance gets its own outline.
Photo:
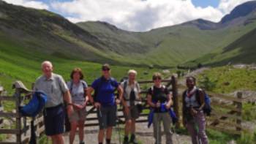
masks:
POLYGON ((69 88, 70 94, 72 96, 72 103, 75 103, 77 105, 83 105, 83 102, 85 102, 86 98, 84 97, 84 90, 87 88, 87 83, 83 80, 80 80, 78 84, 72 83, 72 81, 69 81, 67 83, 67 87, 69 88), (72 88, 71 88, 72 86, 72 88))

